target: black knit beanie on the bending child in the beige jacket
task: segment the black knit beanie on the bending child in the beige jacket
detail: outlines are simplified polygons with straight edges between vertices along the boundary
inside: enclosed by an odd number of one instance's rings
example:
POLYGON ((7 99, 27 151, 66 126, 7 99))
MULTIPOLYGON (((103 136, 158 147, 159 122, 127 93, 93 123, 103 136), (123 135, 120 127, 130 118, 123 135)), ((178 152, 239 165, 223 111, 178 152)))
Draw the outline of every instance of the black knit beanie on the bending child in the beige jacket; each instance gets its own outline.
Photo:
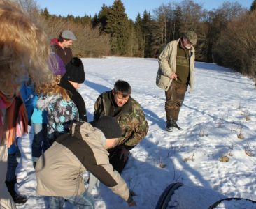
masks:
POLYGON ((119 138, 122 136, 120 125, 111 116, 101 116, 98 121, 92 123, 104 133, 106 139, 119 138))

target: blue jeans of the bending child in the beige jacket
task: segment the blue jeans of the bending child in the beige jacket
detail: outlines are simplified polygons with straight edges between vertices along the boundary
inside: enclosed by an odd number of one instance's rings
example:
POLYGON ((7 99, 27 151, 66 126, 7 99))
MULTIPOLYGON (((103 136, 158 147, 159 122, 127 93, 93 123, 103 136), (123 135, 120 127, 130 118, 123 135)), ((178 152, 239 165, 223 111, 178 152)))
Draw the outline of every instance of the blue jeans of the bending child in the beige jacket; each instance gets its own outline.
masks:
POLYGON ((65 200, 81 209, 94 209, 94 198, 87 191, 78 196, 50 196, 49 208, 62 209, 65 200))

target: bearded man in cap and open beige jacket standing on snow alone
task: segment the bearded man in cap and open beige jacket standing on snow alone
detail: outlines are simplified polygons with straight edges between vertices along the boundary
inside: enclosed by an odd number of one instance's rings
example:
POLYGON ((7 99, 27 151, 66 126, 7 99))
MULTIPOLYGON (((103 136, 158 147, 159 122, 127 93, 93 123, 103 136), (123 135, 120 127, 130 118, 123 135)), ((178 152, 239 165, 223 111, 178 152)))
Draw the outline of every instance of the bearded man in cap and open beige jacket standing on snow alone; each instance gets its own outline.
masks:
POLYGON ((176 121, 183 104, 187 86, 194 88, 194 45, 197 34, 185 31, 178 40, 169 42, 159 55, 156 84, 165 91, 166 130, 178 128, 176 121))

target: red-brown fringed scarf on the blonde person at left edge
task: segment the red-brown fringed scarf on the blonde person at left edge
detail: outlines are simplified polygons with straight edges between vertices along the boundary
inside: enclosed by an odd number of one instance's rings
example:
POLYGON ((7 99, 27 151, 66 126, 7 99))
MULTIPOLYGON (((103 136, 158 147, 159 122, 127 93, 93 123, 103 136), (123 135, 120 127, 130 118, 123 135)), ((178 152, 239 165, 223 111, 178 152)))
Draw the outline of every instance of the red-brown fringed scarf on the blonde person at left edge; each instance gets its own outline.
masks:
POLYGON ((14 98, 7 98, 0 91, 0 143, 4 138, 3 134, 6 134, 6 145, 9 148, 15 137, 22 137, 27 133, 27 124, 27 111, 20 94, 14 98))

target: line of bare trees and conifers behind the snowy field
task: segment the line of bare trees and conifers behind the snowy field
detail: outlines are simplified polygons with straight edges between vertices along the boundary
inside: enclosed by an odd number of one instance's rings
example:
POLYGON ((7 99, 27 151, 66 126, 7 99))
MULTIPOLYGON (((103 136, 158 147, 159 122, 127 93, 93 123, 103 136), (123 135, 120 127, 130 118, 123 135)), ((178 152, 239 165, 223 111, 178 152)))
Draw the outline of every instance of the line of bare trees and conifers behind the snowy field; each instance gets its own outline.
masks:
POLYGON ((94 17, 51 15, 39 10, 36 0, 17 0, 41 21, 50 38, 63 29, 71 29, 78 40, 73 42, 77 56, 157 57, 171 40, 185 30, 198 35, 196 60, 217 63, 256 77, 256 0, 250 9, 225 1, 217 9, 205 10, 193 0, 162 4, 150 13, 145 10, 131 20, 122 0, 101 7, 94 17))

